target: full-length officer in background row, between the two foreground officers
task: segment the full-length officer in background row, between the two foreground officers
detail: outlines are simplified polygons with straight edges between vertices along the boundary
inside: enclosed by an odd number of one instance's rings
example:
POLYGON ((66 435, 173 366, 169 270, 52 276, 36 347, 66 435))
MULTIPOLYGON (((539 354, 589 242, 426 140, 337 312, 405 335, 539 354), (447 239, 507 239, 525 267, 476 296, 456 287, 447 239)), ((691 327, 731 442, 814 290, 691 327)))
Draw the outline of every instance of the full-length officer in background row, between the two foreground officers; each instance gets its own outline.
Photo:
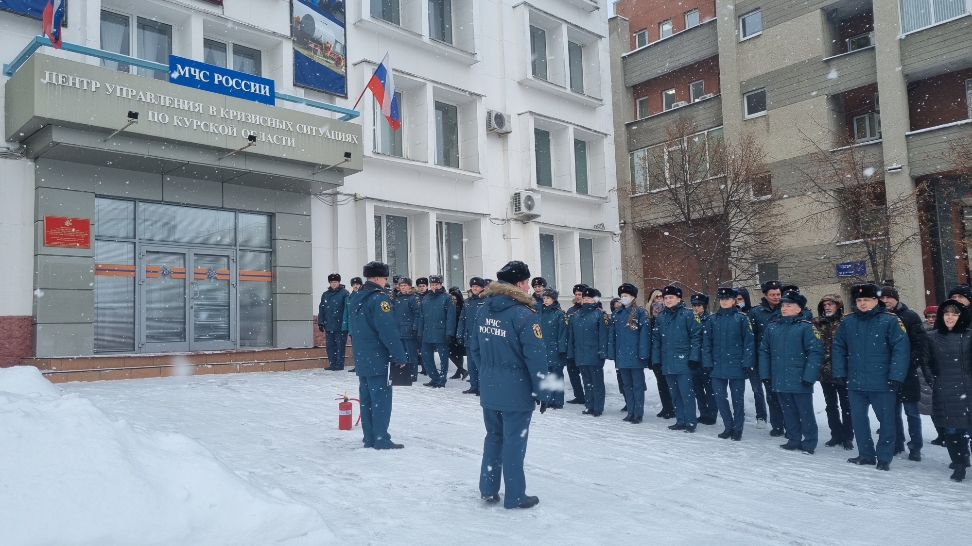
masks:
POLYGON ((443 388, 449 377, 449 345, 456 333, 456 302, 442 288, 442 277, 429 276, 429 290, 422 296, 422 315, 419 319, 419 343, 422 344, 422 361, 429 373, 426 387, 443 388), (438 366, 435 365, 438 354, 438 366))

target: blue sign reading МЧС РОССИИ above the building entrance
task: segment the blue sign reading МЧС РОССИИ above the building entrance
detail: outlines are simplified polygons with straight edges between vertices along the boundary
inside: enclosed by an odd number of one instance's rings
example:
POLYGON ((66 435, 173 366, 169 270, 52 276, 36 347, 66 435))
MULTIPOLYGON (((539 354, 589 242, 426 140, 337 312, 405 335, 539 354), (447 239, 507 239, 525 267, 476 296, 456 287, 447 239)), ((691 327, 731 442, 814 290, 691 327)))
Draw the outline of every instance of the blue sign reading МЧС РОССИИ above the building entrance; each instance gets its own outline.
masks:
POLYGON ((273 80, 176 55, 169 55, 169 82, 274 104, 273 80))

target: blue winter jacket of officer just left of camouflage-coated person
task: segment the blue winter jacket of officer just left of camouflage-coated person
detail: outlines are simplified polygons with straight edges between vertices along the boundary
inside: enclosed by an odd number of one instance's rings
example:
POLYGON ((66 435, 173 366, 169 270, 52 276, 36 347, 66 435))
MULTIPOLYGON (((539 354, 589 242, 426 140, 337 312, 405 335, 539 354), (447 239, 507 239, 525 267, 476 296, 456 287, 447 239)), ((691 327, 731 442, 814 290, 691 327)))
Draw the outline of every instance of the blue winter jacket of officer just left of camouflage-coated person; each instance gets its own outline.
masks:
POLYGON ((771 379, 774 392, 813 393, 823 367, 820 332, 803 315, 780 317, 763 332, 759 345, 759 378, 771 379))

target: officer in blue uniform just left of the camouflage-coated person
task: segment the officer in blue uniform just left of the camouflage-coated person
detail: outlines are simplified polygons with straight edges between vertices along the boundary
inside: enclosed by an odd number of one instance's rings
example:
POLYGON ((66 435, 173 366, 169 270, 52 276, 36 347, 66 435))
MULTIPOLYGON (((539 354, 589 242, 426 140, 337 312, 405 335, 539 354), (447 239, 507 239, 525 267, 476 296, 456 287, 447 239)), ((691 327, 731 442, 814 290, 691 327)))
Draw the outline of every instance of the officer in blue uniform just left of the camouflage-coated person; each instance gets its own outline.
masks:
POLYGON ((800 292, 782 293, 780 317, 766 326, 759 345, 759 377, 780 401, 788 439, 780 447, 814 455, 814 383, 823 367, 823 343, 816 326, 803 318, 806 307, 800 292))

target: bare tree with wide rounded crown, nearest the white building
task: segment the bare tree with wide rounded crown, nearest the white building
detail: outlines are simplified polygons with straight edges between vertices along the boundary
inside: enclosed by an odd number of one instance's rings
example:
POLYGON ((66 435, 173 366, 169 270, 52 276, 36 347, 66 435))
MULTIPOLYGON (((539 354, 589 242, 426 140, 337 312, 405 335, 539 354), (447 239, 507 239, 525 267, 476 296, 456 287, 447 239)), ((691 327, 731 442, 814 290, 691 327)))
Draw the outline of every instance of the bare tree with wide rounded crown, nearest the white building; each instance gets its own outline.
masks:
MULTIPOLYGON (((705 131, 682 117, 667 128, 664 144, 632 161, 633 185, 619 192, 630 203, 642 243, 664 249, 643 256, 654 265, 648 281, 712 293, 752 279, 756 264, 777 255, 786 231, 781 196, 751 134, 726 144, 721 129, 705 131)), ((641 265, 624 264, 629 273, 641 265)))

